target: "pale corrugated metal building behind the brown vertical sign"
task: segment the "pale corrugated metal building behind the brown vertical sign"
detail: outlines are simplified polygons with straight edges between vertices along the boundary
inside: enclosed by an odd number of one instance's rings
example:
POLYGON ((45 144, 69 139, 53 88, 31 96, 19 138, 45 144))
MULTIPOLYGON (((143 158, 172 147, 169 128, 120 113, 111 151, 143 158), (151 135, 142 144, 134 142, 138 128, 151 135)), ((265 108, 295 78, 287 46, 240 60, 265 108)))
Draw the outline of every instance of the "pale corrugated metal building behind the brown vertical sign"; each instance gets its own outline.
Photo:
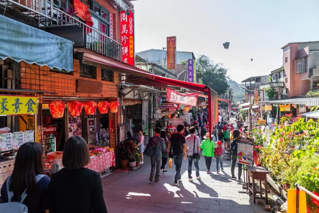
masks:
MULTIPOLYGON (((162 49, 148 49, 141 52, 137 52, 136 55, 142 57, 147 63, 152 62, 158 65, 163 64, 163 50, 162 49)), ((167 51, 164 50, 165 64, 164 68, 167 67, 167 51)), ((181 64, 181 61, 187 59, 196 59, 193 52, 176 51, 176 64, 181 64)))

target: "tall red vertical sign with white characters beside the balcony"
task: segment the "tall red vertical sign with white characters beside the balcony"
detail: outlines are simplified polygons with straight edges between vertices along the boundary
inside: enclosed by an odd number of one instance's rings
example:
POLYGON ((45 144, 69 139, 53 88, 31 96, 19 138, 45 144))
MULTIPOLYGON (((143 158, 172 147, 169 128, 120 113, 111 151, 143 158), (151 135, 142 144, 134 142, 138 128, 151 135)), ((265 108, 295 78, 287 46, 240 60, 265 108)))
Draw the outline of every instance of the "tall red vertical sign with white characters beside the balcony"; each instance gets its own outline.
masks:
POLYGON ((126 15, 121 11, 121 44, 122 61, 125 64, 134 66, 134 14, 126 15))

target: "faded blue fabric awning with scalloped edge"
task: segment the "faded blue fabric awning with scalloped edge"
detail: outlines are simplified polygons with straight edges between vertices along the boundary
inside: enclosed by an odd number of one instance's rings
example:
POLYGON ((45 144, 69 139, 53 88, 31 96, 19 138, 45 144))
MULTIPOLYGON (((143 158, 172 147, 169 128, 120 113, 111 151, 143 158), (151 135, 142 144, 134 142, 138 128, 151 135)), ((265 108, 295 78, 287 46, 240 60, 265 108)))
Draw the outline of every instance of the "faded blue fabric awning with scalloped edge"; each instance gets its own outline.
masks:
POLYGON ((0 15, 0 58, 73 70, 73 42, 0 15))

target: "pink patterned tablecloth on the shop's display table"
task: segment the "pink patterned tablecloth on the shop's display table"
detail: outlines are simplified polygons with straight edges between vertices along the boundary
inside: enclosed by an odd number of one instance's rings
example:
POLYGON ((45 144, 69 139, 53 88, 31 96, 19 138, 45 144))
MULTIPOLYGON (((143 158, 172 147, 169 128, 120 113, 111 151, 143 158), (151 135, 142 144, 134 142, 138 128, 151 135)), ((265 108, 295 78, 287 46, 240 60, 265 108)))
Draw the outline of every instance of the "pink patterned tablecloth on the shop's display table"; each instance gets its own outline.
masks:
POLYGON ((87 164, 85 167, 97 172, 101 172, 103 170, 110 168, 111 166, 115 166, 114 151, 106 152, 102 155, 91 158, 90 164, 87 164))

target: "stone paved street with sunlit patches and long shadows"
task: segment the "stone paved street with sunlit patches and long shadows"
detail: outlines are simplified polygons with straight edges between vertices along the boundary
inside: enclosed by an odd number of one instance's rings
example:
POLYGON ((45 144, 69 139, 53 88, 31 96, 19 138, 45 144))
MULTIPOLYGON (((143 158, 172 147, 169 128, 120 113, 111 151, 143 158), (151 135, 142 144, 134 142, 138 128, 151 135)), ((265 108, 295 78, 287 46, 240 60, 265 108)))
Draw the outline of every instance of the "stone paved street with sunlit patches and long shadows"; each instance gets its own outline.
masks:
MULTIPOLYGON (((182 182, 174 186, 172 169, 161 174, 160 181, 149 181, 150 158, 145 157, 137 171, 112 173, 102 179, 104 198, 110 213, 265 213, 263 207, 253 204, 237 181, 231 180, 230 161, 224 157, 225 173, 216 174, 213 159, 211 174, 206 174, 204 157, 199 162, 200 180, 188 181, 187 160, 182 163, 182 182)), ((192 167, 195 177, 195 168, 192 167)), ((235 170, 237 174, 237 168, 235 170)), ((243 178, 243 177, 242 177, 243 178)))

